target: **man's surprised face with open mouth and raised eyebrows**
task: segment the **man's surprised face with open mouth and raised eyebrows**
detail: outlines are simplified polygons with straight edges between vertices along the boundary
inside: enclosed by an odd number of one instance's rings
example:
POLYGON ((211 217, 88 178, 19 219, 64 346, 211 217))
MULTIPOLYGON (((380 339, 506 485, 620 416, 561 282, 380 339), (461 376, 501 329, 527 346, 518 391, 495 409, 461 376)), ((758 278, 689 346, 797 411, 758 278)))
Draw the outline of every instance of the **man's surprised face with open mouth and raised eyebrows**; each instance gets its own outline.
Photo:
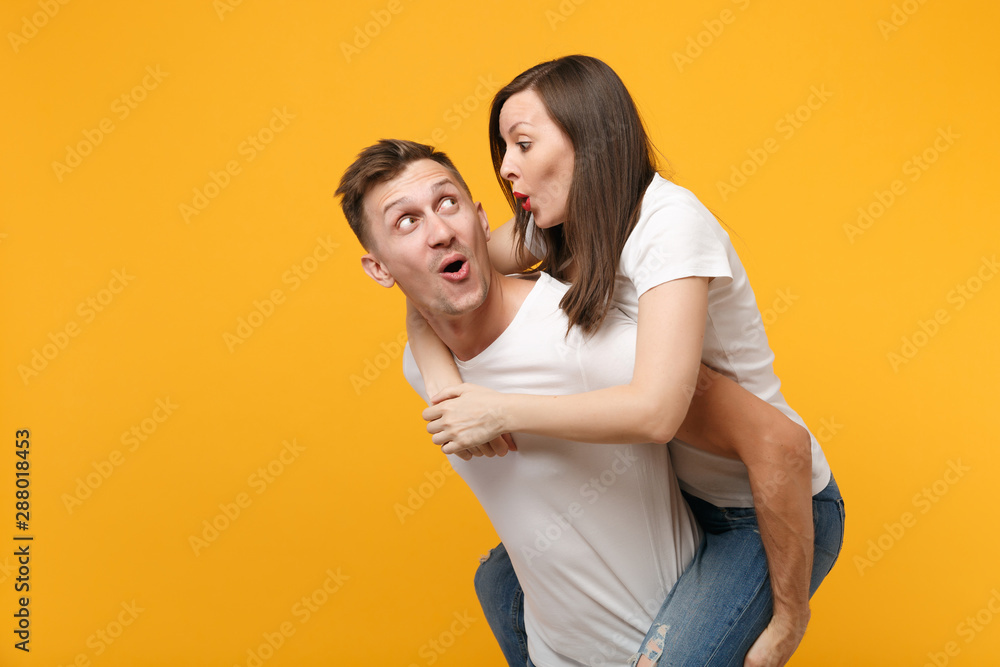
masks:
POLYGON ((372 250, 361 262, 376 282, 398 283, 425 313, 457 316, 482 305, 489 223, 447 168, 411 162, 369 190, 364 204, 372 250))

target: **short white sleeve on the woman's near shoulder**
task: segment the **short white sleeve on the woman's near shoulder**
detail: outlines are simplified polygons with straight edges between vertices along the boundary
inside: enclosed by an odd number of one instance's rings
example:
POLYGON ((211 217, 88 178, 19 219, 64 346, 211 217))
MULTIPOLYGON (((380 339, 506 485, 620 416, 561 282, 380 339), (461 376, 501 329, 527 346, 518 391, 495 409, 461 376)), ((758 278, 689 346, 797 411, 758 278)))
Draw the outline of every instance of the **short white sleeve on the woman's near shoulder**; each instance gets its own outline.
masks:
POLYGON ((678 278, 712 278, 715 287, 732 282, 726 232, 694 195, 682 192, 670 197, 647 193, 650 201, 643 201, 620 266, 637 296, 678 278))

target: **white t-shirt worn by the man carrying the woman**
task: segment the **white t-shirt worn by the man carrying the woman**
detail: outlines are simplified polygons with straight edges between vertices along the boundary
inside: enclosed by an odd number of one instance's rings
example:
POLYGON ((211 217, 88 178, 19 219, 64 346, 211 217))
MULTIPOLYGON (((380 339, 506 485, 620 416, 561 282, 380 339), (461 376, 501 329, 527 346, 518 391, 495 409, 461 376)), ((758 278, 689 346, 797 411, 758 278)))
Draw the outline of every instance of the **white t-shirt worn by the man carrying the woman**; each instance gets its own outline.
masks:
MULTIPOLYGON (((567 332, 566 285, 540 274, 507 329, 459 361, 466 382, 572 394, 629 382, 636 325, 609 315, 599 332, 567 332)), ((406 349, 407 380, 427 400, 406 349)), ((518 451, 462 461, 524 590, 538 667, 627 663, 701 539, 663 445, 586 444, 515 433, 518 451)))

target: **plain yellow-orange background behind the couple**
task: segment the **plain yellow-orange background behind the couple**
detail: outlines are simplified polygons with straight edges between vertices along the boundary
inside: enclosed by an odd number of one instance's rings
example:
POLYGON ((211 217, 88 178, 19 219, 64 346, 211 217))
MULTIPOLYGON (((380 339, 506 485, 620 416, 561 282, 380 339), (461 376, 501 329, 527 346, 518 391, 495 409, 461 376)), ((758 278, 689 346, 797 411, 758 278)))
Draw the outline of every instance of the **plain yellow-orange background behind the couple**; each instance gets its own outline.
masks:
POLYGON ((793 664, 996 664, 998 18, 918 0, 4 2, 0 664, 248 665, 283 624, 263 664, 501 664, 471 583, 495 535, 435 474, 403 302, 362 273, 332 195, 376 139, 433 138, 500 224, 489 98, 577 52, 615 68, 676 180, 735 232, 785 395, 846 498, 793 664), (69 147, 89 154, 67 172, 69 147), (213 173, 225 187, 185 220, 213 173))

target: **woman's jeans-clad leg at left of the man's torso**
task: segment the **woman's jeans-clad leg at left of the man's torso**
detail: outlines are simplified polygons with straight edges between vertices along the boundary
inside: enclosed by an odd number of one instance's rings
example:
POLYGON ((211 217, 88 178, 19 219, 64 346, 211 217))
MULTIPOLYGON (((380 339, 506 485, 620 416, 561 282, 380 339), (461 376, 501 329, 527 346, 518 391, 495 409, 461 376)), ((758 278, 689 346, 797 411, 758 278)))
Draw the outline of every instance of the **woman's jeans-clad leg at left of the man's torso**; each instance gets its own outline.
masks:
POLYGON ((503 543, 492 549, 479 564, 474 582, 486 622, 507 664, 530 667, 528 633, 524 630, 524 595, 503 543))

